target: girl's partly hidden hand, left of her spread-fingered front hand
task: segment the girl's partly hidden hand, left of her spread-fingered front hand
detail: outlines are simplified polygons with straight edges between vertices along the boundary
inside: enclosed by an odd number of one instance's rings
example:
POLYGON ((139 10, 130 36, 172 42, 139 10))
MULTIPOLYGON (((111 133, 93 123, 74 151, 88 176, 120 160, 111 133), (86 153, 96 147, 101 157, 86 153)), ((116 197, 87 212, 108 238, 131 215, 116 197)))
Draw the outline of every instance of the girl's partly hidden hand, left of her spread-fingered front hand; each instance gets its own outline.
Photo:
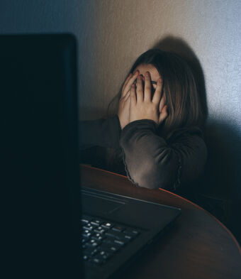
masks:
POLYGON ((120 127, 122 129, 130 123, 130 88, 131 84, 135 82, 138 75, 139 71, 136 71, 134 75, 130 73, 122 87, 118 106, 118 117, 120 120, 120 127))

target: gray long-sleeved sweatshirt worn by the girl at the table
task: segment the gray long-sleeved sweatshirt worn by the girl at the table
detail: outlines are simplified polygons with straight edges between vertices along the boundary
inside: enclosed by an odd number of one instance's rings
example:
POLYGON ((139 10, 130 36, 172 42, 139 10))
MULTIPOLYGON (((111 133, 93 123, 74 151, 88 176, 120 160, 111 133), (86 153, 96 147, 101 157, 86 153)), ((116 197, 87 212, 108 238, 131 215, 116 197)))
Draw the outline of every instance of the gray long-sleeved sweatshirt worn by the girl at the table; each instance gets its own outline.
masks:
POLYGON ((82 121, 79 133, 81 163, 127 175, 140 187, 175 192, 194 182, 206 163, 206 144, 196 126, 176 129, 164 138, 159 136, 155 121, 133 121, 121 130, 118 116, 114 116, 82 121), (112 156, 111 163, 96 160, 110 150, 120 156, 112 156))

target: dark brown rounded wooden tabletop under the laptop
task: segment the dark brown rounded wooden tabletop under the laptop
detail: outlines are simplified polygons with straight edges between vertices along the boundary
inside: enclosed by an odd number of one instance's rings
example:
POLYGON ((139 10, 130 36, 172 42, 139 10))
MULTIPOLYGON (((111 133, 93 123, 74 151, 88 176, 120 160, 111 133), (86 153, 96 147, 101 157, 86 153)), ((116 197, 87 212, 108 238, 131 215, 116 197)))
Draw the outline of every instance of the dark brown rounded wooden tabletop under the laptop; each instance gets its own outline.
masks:
POLYGON ((136 187, 123 175, 87 165, 81 165, 80 170, 84 187, 181 208, 181 216, 172 230, 128 268, 125 279, 241 278, 239 244, 204 209, 166 190, 136 187))

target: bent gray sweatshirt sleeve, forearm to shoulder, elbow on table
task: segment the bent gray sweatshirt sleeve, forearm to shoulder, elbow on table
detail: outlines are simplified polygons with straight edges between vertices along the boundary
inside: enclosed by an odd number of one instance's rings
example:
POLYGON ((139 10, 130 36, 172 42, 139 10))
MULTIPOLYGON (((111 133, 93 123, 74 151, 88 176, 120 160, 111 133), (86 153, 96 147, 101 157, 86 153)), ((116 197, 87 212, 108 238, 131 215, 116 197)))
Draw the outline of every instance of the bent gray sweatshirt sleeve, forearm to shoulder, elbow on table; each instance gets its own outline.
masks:
POLYGON ((157 135, 155 121, 133 121, 120 134, 123 160, 129 179, 140 187, 176 190, 191 182, 206 163, 206 144, 201 130, 191 128, 176 133, 167 142, 157 135))

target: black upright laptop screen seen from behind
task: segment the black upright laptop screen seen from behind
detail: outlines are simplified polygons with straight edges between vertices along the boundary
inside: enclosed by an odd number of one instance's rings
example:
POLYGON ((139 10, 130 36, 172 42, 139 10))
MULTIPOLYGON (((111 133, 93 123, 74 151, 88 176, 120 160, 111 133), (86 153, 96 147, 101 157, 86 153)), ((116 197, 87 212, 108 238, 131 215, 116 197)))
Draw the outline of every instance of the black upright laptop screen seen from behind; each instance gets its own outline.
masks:
POLYGON ((76 40, 1 35, 0 59, 5 266, 81 278, 76 40))

